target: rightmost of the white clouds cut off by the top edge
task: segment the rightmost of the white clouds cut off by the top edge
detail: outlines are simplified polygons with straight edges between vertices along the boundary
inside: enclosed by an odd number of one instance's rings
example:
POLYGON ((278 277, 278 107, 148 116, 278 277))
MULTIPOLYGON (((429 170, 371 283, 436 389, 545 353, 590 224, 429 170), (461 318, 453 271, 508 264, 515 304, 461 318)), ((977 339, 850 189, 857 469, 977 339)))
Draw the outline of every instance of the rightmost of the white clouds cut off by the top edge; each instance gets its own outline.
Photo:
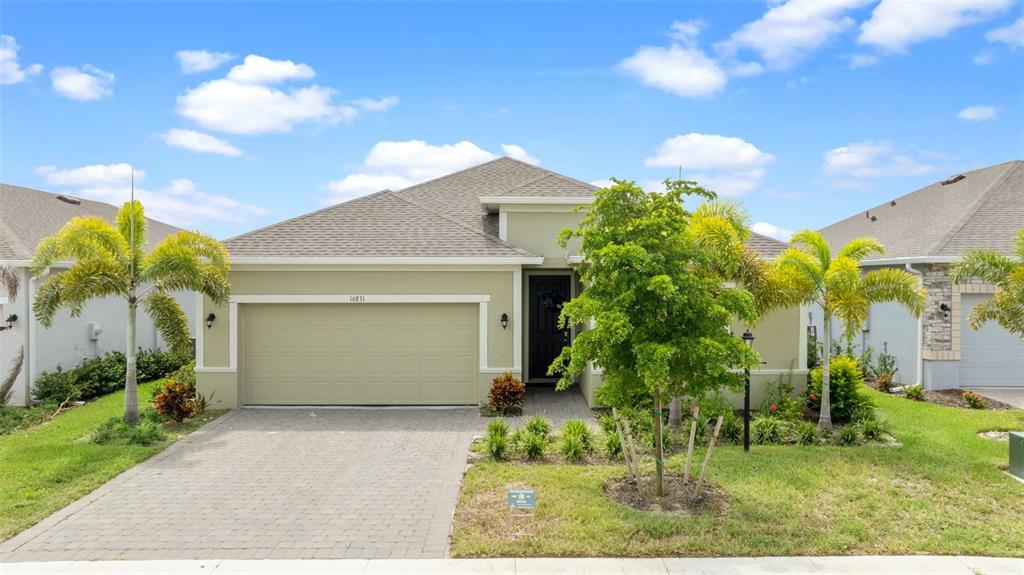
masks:
POLYGON ((1013 0, 882 0, 860 25, 857 42, 888 52, 906 52, 912 44, 943 38, 959 28, 988 19, 1013 0))

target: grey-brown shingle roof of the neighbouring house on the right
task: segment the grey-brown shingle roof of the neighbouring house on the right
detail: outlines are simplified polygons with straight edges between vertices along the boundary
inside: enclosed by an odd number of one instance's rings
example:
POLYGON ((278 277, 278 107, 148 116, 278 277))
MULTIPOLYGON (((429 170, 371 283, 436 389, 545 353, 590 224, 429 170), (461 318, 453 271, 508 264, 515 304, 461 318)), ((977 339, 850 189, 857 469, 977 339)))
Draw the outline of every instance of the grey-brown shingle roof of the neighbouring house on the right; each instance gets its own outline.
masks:
POLYGON ((982 248, 1009 254, 1024 226, 1024 161, 965 172, 851 216, 821 230, 833 246, 879 238, 883 256, 867 259, 956 257, 982 248))

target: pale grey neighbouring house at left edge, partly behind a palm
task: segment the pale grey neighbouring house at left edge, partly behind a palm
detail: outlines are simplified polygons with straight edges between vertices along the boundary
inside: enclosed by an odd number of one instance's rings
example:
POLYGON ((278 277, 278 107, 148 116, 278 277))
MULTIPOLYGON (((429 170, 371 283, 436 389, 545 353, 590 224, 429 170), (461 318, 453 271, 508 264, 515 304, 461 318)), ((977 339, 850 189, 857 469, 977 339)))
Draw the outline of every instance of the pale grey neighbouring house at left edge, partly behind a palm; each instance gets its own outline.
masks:
MULTIPOLYGON (((85 358, 108 351, 125 351, 128 308, 124 300, 93 300, 78 317, 61 310, 47 329, 32 313, 39 281, 29 270, 36 246, 59 230, 68 220, 77 216, 99 216, 114 222, 117 212, 114 206, 99 202, 0 184, 0 264, 13 266, 20 272, 22 279, 16 300, 0 300, 3 315, 0 319, 16 318, 11 323, 11 330, 0 331, 0 377, 7 373, 18 347, 25 345, 25 361, 14 385, 13 404, 27 403, 33 383, 43 371, 52 371, 57 366, 74 367, 85 358)), ((147 219, 146 225, 151 245, 178 230, 153 219, 147 219)), ((178 300, 191 318, 195 298, 182 296, 178 300)), ((153 322, 144 313, 138 314, 137 338, 139 347, 144 349, 161 345, 153 322)))

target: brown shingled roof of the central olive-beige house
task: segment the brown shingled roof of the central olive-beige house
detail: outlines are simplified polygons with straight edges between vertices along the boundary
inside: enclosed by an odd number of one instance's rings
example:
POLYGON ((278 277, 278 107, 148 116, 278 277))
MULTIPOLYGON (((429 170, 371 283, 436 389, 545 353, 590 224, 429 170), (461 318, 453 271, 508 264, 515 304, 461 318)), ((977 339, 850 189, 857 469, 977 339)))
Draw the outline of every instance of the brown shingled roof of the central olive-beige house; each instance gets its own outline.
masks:
MULTIPOLYGON (((589 197, 597 186, 511 158, 350 200, 250 231, 224 244, 232 257, 388 258, 532 256, 498 237, 498 214, 480 197, 589 197)), ((785 244, 754 234, 774 257, 785 244)))

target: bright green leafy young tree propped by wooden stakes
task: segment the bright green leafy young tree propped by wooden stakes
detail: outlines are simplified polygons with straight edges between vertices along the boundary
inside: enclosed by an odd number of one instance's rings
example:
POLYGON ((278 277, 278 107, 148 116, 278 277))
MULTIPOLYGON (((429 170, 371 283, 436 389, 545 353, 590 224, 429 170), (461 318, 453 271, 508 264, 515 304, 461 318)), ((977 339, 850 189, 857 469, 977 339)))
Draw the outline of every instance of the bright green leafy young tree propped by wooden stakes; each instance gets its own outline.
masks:
POLYGON ((588 324, 552 363, 559 389, 591 361, 603 371, 601 401, 616 407, 653 402, 655 490, 664 494, 662 401, 700 397, 741 385, 757 353, 730 335, 734 317, 754 322, 758 304, 745 289, 730 288, 750 254, 745 216, 733 204, 690 181, 667 181, 665 193, 614 180, 597 192, 578 229, 559 239, 583 239, 588 264, 583 293, 562 308, 563 326, 588 324), (709 200, 695 213, 683 196, 709 200), (729 272, 733 273, 729 273, 729 272))

